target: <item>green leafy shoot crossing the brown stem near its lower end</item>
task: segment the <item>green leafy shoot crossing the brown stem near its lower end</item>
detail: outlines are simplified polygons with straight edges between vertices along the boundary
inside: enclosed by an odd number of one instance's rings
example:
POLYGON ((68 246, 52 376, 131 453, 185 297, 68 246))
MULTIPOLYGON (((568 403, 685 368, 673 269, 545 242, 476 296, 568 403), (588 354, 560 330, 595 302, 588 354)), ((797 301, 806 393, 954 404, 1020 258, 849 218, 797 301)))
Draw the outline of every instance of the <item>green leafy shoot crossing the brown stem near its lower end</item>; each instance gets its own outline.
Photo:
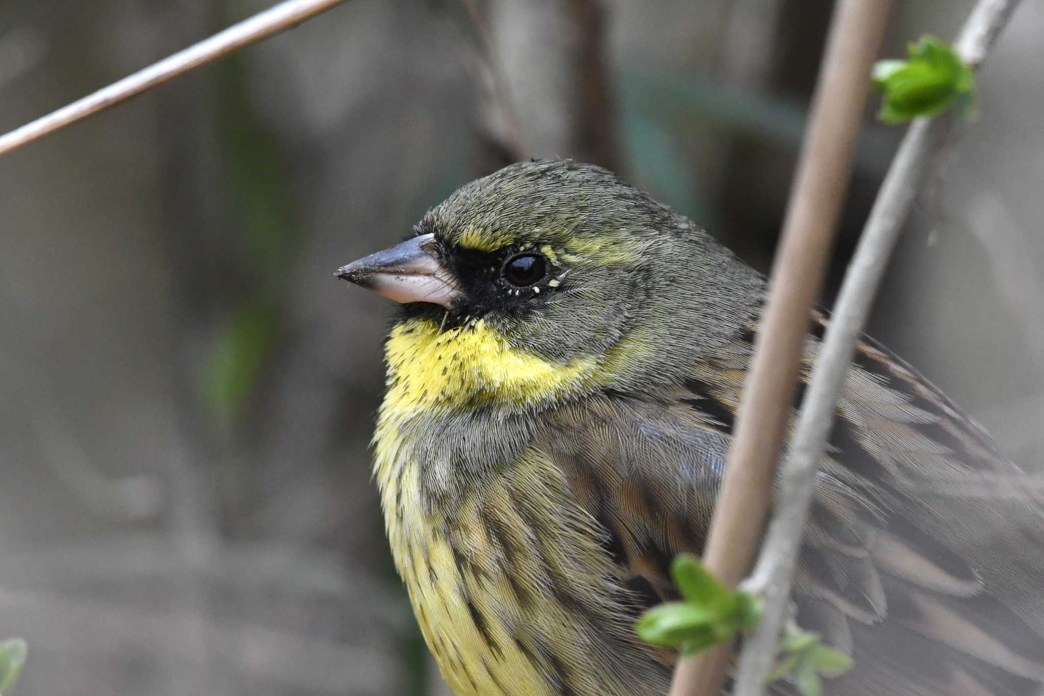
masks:
POLYGON ((635 624, 642 641, 688 655, 731 641, 761 619, 761 603, 754 595, 729 590, 695 556, 679 555, 670 572, 682 601, 645 611, 635 624))

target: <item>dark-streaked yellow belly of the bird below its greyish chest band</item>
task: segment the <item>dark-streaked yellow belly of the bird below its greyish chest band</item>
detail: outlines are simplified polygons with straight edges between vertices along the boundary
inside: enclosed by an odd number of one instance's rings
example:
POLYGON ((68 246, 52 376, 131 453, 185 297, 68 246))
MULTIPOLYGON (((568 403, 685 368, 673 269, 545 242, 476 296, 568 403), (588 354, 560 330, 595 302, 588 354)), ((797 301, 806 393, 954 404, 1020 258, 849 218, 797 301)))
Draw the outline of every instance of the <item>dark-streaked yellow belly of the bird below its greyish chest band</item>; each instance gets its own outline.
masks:
POLYGON ((452 510, 434 511, 419 504, 421 465, 407 463, 382 499, 396 566, 454 693, 658 693, 606 662, 638 665, 649 655, 611 592, 594 521, 551 462, 523 455, 452 510))

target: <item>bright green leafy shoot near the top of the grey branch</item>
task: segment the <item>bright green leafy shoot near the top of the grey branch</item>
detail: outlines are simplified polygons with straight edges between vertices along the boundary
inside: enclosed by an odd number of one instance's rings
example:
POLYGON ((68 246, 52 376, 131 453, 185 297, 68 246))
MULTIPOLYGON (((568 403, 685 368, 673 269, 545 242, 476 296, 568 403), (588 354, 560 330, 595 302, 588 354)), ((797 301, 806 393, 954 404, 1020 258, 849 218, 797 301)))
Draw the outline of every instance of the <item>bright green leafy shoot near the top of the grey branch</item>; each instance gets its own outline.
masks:
POLYGON ((878 61, 874 85, 884 93, 878 113, 885 123, 938 116, 954 106, 958 116, 975 116, 975 71, 956 50, 935 37, 909 45, 909 59, 878 61))

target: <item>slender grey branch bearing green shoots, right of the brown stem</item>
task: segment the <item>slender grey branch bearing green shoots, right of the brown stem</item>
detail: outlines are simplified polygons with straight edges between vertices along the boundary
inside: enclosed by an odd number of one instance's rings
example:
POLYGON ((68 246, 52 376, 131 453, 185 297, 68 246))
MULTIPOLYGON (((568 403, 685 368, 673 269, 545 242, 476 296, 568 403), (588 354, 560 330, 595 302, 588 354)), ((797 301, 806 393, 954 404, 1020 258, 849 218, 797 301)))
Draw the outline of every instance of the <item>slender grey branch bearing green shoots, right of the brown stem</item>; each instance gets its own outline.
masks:
MULTIPOLYGON (((996 43, 1018 0, 980 0, 965 23, 956 47, 978 67, 996 43)), ((786 617, 790 581, 801 547, 820 459, 834 418, 834 406, 856 342, 870 314, 903 223, 925 171, 942 147, 949 119, 918 119, 906 133, 846 273, 833 317, 801 410, 798 429, 781 475, 779 509, 773 517, 749 590, 764 599, 761 624, 748 639, 739 662, 736 696, 760 696, 773 669, 786 617)))

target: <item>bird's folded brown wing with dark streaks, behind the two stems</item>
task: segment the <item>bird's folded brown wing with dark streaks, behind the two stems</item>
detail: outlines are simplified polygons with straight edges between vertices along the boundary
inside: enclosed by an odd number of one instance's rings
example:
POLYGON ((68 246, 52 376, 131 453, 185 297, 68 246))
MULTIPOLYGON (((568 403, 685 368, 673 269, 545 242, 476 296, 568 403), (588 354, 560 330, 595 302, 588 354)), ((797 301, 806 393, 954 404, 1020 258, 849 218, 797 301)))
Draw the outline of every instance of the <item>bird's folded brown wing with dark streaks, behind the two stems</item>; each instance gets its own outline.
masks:
MULTIPOLYGON (((804 379, 825 322, 807 341, 804 379)), ((674 554, 703 549, 752 339, 656 399, 567 406, 541 445, 646 604, 672 596, 674 554)), ((821 469, 794 599, 799 622, 855 659, 828 693, 1037 693, 1044 506, 986 432, 867 339, 821 469)))

